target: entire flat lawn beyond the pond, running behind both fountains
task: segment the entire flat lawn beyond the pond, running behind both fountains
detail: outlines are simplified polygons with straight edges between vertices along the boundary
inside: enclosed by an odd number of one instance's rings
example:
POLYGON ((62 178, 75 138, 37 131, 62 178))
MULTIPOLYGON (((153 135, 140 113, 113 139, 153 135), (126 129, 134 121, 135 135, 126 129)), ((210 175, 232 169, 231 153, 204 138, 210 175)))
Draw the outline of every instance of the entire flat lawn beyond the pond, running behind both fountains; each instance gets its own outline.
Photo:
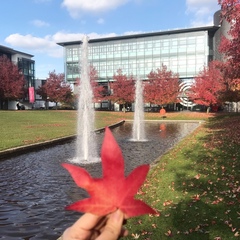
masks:
MULTIPOLYGON (((206 119, 205 113, 168 113, 165 119, 206 119)), ((96 112, 96 128, 120 120, 133 119, 133 112, 96 112)), ((146 113, 146 119, 161 119, 159 113, 146 113)), ((0 151, 76 134, 76 111, 0 111, 0 151)))

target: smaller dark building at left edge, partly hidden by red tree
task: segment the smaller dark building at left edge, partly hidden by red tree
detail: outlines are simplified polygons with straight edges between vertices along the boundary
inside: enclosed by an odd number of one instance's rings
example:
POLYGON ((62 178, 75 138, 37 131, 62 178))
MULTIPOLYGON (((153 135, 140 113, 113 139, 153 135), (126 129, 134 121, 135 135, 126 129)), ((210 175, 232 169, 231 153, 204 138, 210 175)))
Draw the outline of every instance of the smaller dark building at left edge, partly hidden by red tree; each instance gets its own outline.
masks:
MULTIPOLYGON (((19 70, 23 73, 26 80, 26 89, 29 87, 35 88, 35 61, 32 60, 34 56, 0 45, 0 56, 4 55, 16 64, 19 70)), ((29 104, 28 94, 26 98, 19 99, 19 101, 26 109, 32 108, 32 104, 29 104)), ((16 109, 16 101, 10 101, 8 106, 6 106, 6 104, 4 105, 0 99, 0 109, 16 109)))

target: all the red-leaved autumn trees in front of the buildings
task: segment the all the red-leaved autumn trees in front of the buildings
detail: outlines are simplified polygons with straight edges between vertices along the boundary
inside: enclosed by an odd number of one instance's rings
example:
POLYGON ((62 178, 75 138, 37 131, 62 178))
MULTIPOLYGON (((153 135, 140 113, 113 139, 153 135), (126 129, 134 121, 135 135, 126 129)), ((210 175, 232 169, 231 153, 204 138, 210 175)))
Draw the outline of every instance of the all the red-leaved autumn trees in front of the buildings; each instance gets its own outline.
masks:
MULTIPOLYGON (((204 106, 240 101, 240 1, 218 0, 218 3, 221 19, 230 24, 229 37, 222 36, 219 45, 224 60, 214 60, 204 66, 187 92, 189 100, 204 106)), ((109 100, 123 105, 134 102, 136 79, 133 76, 126 76, 118 69, 106 89, 98 84, 96 69, 90 66, 89 72, 94 102, 109 100)), ((58 103, 73 105, 79 97, 78 93, 64 79, 64 74, 52 71, 36 93, 45 101, 55 102, 56 106, 58 103)), ((80 83, 81 79, 76 79, 76 86, 80 83)), ((179 84, 178 74, 162 64, 143 81, 144 101, 159 106, 177 103, 181 95, 179 84)), ((0 57, 0 100, 22 99, 27 93, 23 74, 9 59, 0 57)))

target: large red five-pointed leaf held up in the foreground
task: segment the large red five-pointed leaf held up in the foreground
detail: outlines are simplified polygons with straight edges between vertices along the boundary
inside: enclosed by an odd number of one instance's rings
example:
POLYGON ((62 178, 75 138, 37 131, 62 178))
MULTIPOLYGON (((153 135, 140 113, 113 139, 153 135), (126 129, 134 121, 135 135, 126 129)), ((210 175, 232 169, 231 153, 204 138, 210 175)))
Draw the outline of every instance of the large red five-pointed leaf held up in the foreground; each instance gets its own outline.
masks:
POLYGON ((134 198, 146 179, 149 165, 138 166, 125 177, 121 149, 108 127, 105 129, 101 160, 102 178, 92 178, 84 168, 68 163, 62 164, 69 171, 75 183, 89 194, 89 198, 67 206, 67 210, 103 216, 120 209, 128 217, 156 213, 146 203, 134 198))

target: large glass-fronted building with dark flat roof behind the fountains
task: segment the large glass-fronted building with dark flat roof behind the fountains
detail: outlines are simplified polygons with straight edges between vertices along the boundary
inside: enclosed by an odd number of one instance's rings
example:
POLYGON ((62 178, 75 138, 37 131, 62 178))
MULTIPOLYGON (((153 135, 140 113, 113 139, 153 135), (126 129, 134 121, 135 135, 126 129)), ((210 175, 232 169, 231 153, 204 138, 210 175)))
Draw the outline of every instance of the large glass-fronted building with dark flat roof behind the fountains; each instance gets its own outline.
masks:
MULTIPOLYGON (((164 64, 179 74, 181 88, 187 90, 204 66, 221 58, 217 51, 223 32, 219 14, 215 13, 213 26, 90 39, 88 59, 98 72, 98 82, 108 87, 118 69, 144 80, 164 64)), ((80 77, 81 44, 58 43, 64 47, 66 81, 73 85, 80 77)), ((184 96, 181 104, 186 108, 193 105, 184 96)))

